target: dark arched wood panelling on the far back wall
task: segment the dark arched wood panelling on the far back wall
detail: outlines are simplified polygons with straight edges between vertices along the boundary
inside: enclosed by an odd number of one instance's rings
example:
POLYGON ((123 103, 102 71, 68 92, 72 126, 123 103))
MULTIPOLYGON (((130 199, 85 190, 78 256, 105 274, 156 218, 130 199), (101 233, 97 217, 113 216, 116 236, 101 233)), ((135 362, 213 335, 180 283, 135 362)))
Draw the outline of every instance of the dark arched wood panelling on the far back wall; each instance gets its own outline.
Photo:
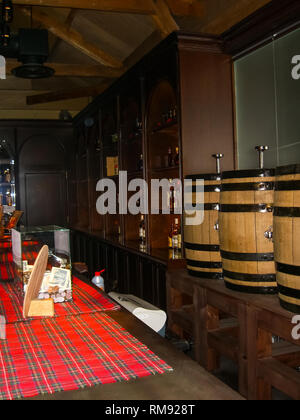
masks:
POLYGON ((15 161, 17 208, 24 211, 21 222, 27 226, 68 226, 72 124, 1 121, 0 135, 15 161))

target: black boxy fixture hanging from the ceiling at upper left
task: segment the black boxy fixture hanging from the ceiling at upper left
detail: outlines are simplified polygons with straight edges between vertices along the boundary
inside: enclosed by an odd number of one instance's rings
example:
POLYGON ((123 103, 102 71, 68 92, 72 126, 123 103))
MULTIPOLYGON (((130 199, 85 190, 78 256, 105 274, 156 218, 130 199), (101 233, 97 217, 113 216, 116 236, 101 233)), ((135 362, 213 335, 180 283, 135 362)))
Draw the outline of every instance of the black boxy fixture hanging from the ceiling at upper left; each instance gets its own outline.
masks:
POLYGON ((43 79, 54 75, 54 70, 45 67, 49 55, 48 31, 45 29, 20 29, 12 35, 7 47, 0 48, 6 58, 17 58, 22 63, 12 70, 16 77, 43 79))

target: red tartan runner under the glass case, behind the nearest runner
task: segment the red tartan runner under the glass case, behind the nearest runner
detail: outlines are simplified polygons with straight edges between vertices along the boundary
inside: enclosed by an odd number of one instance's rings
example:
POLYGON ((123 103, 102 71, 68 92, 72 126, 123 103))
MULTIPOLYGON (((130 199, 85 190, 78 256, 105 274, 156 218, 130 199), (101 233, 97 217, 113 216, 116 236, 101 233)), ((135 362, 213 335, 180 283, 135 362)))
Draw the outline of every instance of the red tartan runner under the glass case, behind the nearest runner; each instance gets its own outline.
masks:
MULTIPOLYGON (((120 306, 100 290, 73 277, 73 302, 55 305, 55 316, 71 316, 101 311, 116 311, 120 306)), ((24 321, 22 302, 12 283, 0 284, 0 315, 7 323, 24 321)))

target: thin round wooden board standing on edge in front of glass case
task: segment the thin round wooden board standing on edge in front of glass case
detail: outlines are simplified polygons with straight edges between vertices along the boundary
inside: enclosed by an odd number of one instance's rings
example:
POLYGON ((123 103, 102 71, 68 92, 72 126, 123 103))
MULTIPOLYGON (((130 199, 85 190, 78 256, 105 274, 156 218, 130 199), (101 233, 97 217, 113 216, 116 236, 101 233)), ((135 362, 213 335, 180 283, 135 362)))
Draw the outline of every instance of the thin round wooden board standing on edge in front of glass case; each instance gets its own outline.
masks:
POLYGON ((23 316, 28 318, 29 308, 32 300, 38 298, 39 292, 41 290, 44 274, 46 272, 47 263, 48 263, 48 254, 49 248, 47 245, 44 245, 40 250, 37 259, 35 260, 33 270, 29 279, 27 286, 24 304, 23 304, 23 316))

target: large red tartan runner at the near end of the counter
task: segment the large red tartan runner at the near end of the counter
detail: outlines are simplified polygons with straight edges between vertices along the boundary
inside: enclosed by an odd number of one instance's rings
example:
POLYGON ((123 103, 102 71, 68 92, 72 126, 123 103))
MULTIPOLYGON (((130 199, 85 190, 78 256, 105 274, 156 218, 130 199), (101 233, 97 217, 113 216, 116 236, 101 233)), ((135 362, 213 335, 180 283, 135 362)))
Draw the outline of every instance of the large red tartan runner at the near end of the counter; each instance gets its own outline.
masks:
POLYGON ((0 367, 5 400, 172 371, 104 313, 8 325, 0 367))

